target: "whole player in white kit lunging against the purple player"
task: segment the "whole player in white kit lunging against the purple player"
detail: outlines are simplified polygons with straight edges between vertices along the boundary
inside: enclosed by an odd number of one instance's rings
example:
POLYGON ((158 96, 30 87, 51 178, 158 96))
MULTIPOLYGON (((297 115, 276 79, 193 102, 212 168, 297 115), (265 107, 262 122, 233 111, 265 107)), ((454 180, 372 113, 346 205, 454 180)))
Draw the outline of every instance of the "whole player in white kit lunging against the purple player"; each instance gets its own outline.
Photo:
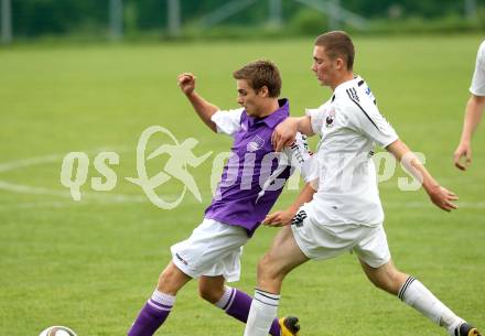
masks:
POLYGON ((456 195, 430 175, 380 115, 366 82, 353 73, 354 45, 345 32, 320 35, 313 59, 312 71, 322 85, 332 88, 332 98, 308 110, 305 117, 284 120, 273 141, 279 150, 294 139, 297 130, 319 134, 321 141, 313 155, 316 180, 305 185, 289 209, 269 215, 263 223, 284 227, 258 264, 258 286, 245 336, 267 336, 282 281, 291 270, 310 259, 328 259, 346 251, 358 257, 376 286, 397 295, 450 335, 479 335, 420 281, 394 265, 382 228, 374 143, 405 163, 438 207, 455 209, 456 195))

